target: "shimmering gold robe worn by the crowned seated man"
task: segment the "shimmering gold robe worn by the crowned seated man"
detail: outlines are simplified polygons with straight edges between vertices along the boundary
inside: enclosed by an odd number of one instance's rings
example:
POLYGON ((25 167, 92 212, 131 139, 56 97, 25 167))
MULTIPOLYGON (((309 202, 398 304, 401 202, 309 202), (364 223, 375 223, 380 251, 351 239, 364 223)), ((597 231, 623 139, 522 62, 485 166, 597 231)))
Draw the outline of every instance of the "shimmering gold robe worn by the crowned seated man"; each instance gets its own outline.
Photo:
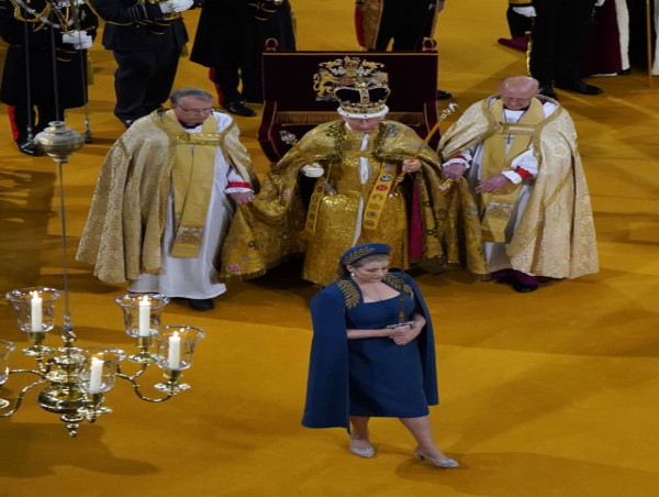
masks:
MULTIPOLYGON (((321 124, 304 135, 268 174, 256 200, 237 209, 224 241, 222 275, 256 277, 287 257, 305 253, 303 277, 320 285, 333 281, 339 256, 353 246, 356 224, 361 222, 359 199, 368 200, 380 172, 393 168, 393 176, 400 173, 402 161, 410 158, 422 141, 412 129, 383 121, 369 140, 368 150, 359 151, 360 143, 361 134, 348 131, 343 121, 321 124), (365 185, 358 176, 360 156, 368 157, 371 167, 365 185), (300 169, 311 161, 322 164, 336 190, 335 195, 323 194, 313 233, 304 230, 308 208, 300 195, 300 184, 310 180, 301 179, 300 169)), ((418 234, 423 258, 446 262, 443 234, 448 216, 436 207, 442 197, 442 173, 433 151, 424 150, 420 159, 422 170, 410 175, 387 199, 377 230, 361 229, 357 241, 388 243, 394 266, 406 265, 413 188, 423 224, 418 234)))

